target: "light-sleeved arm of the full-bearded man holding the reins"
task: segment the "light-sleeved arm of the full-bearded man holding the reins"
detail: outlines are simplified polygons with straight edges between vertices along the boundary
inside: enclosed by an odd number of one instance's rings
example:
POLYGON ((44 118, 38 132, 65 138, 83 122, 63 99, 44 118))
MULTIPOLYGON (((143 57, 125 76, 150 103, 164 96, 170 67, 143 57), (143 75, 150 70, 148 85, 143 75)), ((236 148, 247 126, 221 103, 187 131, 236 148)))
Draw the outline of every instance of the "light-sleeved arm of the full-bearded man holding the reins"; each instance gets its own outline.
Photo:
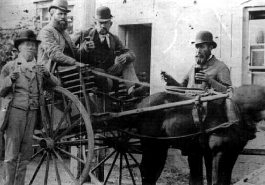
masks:
POLYGON ((49 28, 43 28, 38 35, 38 39, 41 40, 41 47, 49 59, 62 65, 75 64, 75 59, 65 55, 61 51, 60 45, 57 43, 52 30, 49 30, 49 28))

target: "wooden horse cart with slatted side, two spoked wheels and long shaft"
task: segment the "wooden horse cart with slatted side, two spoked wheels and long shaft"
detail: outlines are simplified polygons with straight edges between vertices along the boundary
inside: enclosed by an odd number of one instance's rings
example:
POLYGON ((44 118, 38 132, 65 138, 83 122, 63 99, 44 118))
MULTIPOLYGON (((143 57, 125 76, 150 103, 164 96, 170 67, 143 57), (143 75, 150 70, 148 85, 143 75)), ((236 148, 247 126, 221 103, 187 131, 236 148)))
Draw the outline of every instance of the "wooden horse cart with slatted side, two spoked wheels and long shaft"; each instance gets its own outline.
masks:
MULTIPOLYGON (((44 185, 48 185, 51 162, 55 169, 56 182, 58 185, 62 184, 62 177, 58 170, 58 162, 61 163, 71 177, 72 184, 81 185, 84 182, 91 181, 96 185, 105 185, 108 182, 118 157, 120 161, 119 185, 121 185, 122 182, 123 158, 125 159, 126 166, 130 173, 132 184, 136 185, 128 157, 134 161, 136 166, 139 166, 133 153, 141 153, 139 141, 141 136, 130 134, 134 127, 133 125, 128 125, 126 119, 148 112, 161 111, 195 103, 194 98, 153 107, 126 110, 128 104, 132 102, 135 103, 141 100, 141 98, 126 100, 123 98, 122 93, 124 93, 124 90, 122 89, 118 90, 118 93, 121 93, 119 95, 121 98, 109 93, 97 91, 94 75, 105 74, 94 71, 89 68, 89 66, 85 66, 81 68, 69 67, 68 69, 57 72, 56 75, 61 79, 62 87, 57 86, 47 90, 45 94, 46 104, 41 105, 44 106, 44 110, 46 110, 42 118, 43 128, 35 132, 33 136, 36 140, 33 145, 35 154, 31 157, 31 159, 38 157, 39 163, 32 175, 29 185, 33 185, 36 175, 39 173, 42 165, 46 168, 43 177, 44 185), (112 103, 111 106, 116 105, 119 108, 117 112, 106 111, 106 98, 112 103), (92 104, 93 106, 91 106, 92 104), (91 109, 95 109, 96 111, 91 112, 91 109), (138 140, 131 140, 131 138, 138 138, 138 140), (70 148, 73 146, 77 147, 76 155, 70 152, 70 148), (106 155, 104 151, 108 148, 112 148, 112 150, 106 155), (103 151, 103 154, 102 152, 97 153, 97 160, 93 158, 95 151, 103 151), (66 165, 63 159, 65 156, 76 161, 76 169, 70 169, 68 165, 66 165), (104 179, 104 162, 112 156, 115 156, 114 160, 104 179), (94 164, 93 167, 92 164, 94 164), (94 173, 96 171, 97 173, 94 173)), ((126 81, 115 76, 107 76, 115 80, 126 81)), ((185 88, 181 88, 179 91, 185 91, 185 88)), ((225 99, 227 97, 229 97, 228 93, 222 94, 212 91, 210 96, 200 97, 199 101, 202 104, 203 102, 225 99)), ((224 124, 221 126, 229 125, 224 124)), ((204 131, 208 132, 214 129, 215 128, 204 131)), ((201 132, 195 134, 201 134, 201 132)), ((195 134, 191 135, 194 136, 195 134)), ((250 154, 252 151, 245 150, 245 152, 250 154)))

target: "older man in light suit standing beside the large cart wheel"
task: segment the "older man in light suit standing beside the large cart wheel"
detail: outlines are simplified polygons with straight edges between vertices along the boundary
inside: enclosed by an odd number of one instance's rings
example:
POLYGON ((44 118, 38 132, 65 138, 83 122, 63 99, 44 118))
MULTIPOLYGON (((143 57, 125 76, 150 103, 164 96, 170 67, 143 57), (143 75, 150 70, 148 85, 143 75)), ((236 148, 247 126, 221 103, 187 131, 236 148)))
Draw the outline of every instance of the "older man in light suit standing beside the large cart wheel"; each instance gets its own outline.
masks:
POLYGON ((39 43, 32 30, 21 31, 14 41, 18 57, 7 62, 0 73, 0 130, 5 134, 3 185, 24 185, 33 154, 34 127, 43 110, 39 105, 44 105, 43 88, 59 85, 44 65, 37 65, 39 43))

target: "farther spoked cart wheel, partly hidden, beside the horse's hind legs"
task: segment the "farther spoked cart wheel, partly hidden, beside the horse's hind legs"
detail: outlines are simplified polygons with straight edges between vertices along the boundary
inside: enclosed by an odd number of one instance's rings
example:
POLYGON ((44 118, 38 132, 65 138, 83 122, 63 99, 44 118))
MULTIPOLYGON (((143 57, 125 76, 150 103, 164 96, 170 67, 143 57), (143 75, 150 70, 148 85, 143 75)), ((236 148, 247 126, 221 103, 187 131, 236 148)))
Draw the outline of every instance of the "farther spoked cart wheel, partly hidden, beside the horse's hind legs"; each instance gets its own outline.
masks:
MULTIPOLYGON (((97 161, 97 164, 91 169, 90 177, 92 182, 99 183, 98 179, 96 179, 98 176, 96 172, 98 169, 102 168, 106 161, 109 161, 108 164, 110 164, 110 168, 106 168, 106 165, 104 165, 107 174, 103 180, 103 185, 108 183, 111 174, 113 174, 115 165, 118 165, 116 168, 119 169, 119 185, 122 183, 122 177, 125 177, 126 175, 128 176, 126 179, 131 179, 131 184, 136 185, 134 176, 137 172, 134 168, 139 168, 140 164, 135 154, 138 154, 138 156, 142 154, 140 139, 132 138, 130 135, 119 129, 96 133, 96 135, 94 150, 100 151, 108 149, 108 152, 106 152, 107 155, 104 158, 101 158, 100 161, 97 161), (117 161, 119 162, 117 163, 117 161), (127 173, 125 174, 123 170, 127 170, 127 173)), ((140 171, 138 174, 140 174, 140 171)))

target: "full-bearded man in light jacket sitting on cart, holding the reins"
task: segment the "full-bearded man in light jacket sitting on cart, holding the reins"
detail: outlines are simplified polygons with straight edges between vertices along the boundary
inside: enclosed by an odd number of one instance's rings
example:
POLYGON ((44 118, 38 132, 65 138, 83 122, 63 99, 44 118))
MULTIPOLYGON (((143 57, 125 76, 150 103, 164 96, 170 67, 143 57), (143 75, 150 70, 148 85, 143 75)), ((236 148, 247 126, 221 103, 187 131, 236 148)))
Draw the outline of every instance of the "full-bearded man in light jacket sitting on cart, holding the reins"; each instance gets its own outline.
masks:
POLYGON ((51 21, 44 26, 38 35, 41 41, 38 51, 38 62, 44 63, 51 71, 55 62, 60 68, 69 65, 84 64, 77 62, 79 51, 74 48, 70 36, 65 31, 68 26, 67 13, 68 3, 66 0, 54 0, 49 6, 51 21))

